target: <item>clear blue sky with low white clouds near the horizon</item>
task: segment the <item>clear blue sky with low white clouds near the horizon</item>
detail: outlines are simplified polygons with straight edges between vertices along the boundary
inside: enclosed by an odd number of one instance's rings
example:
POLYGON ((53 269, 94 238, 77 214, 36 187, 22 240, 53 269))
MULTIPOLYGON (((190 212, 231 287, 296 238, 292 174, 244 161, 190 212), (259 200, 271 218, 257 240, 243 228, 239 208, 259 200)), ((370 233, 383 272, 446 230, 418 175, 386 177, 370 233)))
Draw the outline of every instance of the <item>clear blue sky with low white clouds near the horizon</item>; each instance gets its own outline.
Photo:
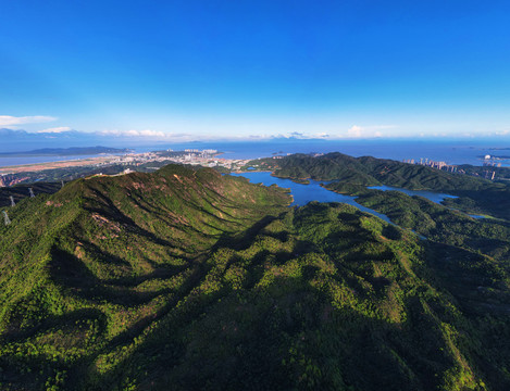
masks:
POLYGON ((509 1, 0 0, 0 128, 508 139, 509 109, 509 1))

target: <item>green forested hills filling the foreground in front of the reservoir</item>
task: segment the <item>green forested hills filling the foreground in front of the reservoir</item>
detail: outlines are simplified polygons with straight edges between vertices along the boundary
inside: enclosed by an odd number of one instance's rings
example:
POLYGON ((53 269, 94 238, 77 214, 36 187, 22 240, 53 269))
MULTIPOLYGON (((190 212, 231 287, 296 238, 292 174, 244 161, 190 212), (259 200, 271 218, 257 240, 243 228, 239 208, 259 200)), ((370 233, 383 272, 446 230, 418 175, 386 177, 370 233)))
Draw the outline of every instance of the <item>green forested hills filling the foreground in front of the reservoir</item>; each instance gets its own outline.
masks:
POLYGON ((0 228, 0 389, 508 390, 508 249, 408 199, 386 212, 437 240, 177 165, 24 199, 0 228))

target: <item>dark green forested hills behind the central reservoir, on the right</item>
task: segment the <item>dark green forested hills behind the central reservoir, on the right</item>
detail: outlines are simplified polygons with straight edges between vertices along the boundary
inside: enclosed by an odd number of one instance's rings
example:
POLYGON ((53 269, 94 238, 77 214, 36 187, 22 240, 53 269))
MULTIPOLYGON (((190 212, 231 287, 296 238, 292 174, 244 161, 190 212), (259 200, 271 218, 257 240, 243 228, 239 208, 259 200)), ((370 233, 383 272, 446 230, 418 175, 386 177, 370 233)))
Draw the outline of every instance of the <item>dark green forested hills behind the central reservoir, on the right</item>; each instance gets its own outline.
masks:
POLYGON ((339 180, 344 185, 387 185, 448 192, 459 197, 448 201, 457 209, 510 220, 510 184, 493 182, 478 176, 452 174, 372 156, 352 157, 338 152, 318 157, 294 154, 277 160, 263 159, 251 165, 269 168, 282 178, 339 180))

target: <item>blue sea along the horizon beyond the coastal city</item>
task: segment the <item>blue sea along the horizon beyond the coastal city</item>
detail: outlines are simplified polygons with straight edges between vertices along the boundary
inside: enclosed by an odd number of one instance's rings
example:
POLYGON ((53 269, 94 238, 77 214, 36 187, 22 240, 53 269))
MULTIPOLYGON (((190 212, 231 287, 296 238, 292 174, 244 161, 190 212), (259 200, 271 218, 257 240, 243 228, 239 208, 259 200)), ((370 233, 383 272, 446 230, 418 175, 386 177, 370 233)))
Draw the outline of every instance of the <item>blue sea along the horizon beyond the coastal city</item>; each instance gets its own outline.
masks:
MULTIPOLYGON (((69 146, 76 147, 76 146, 69 146)), ((351 156, 374 156, 396 161, 432 160, 447 164, 483 165, 484 156, 500 156, 493 160, 501 167, 510 167, 510 139, 501 140, 420 140, 420 139, 372 139, 372 140, 324 140, 324 139, 272 139, 254 141, 194 141, 187 143, 154 143, 145 146, 104 146, 129 148, 135 152, 149 152, 172 149, 214 149, 225 159, 257 159, 291 153, 328 153, 341 152, 351 156)), ((73 156, 0 156, 0 167, 21 164, 47 163, 90 157, 90 155, 73 156)))

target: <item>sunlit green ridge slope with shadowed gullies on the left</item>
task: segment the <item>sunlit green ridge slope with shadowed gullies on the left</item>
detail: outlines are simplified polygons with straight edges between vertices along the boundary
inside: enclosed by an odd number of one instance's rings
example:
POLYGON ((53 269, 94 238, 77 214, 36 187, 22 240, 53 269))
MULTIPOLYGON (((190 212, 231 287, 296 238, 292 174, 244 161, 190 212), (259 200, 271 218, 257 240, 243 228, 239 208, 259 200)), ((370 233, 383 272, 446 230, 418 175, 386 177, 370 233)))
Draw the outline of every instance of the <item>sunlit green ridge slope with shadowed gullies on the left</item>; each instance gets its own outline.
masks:
POLYGON ((214 243, 289 202, 281 189, 181 166, 78 180, 26 199, 1 228, 1 330, 7 340, 38 332, 59 340, 38 342, 36 361, 82 357, 101 348, 94 330, 103 343, 135 325, 142 330, 192 287, 214 243))

